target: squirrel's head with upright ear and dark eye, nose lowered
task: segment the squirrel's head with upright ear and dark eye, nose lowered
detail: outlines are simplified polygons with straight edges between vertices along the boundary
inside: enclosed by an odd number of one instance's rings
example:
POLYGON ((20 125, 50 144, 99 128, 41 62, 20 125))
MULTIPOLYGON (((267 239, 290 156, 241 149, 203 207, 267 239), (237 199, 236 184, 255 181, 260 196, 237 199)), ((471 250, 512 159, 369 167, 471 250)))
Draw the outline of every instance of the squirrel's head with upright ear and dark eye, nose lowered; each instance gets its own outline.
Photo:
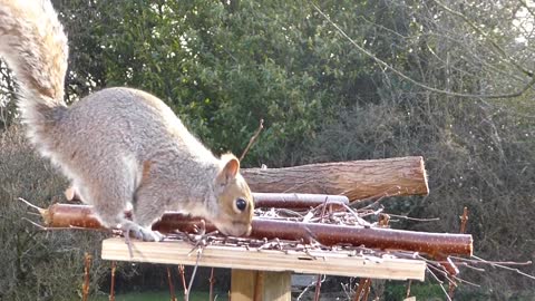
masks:
POLYGON ((240 174, 240 161, 231 154, 221 157, 215 178, 217 216, 211 221, 223 234, 241 236, 251 233, 254 203, 247 183, 240 174))

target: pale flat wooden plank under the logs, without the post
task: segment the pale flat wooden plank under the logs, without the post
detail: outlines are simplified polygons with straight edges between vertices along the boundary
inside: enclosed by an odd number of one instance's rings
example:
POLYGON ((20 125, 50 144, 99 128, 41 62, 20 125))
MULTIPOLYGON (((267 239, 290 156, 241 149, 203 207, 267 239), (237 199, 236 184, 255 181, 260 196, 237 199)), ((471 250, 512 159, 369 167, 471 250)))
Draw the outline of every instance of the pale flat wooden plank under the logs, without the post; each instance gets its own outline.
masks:
MULTIPOLYGON (((104 260, 152 262, 195 265, 196 252, 192 245, 181 241, 140 242, 132 240, 133 258, 121 237, 103 241, 104 260)), ((245 247, 208 245, 204 249, 198 265, 257 270, 272 272, 295 272, 311 274, 344 275, 392 280, 424 281, 426 263, 421 260, 392 258, 350 256, 349 252, 256 251, 245 247)))

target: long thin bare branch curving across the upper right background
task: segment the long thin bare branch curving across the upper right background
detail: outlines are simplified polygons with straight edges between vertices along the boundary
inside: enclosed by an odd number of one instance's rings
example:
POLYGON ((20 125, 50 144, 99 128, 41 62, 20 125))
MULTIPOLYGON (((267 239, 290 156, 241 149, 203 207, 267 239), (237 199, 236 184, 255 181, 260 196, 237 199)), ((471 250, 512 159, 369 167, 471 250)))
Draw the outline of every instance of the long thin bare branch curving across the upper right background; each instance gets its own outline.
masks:
POLYGON ((444 94, 444 95, 449 95, 449 96, 456 96, 456 97, 465 97, 465 98, 514 98, 522 96, 524 93, 526 93, 531 87, 535 85, 535 77, 532 76, 532 79, 529 82, 527 82, 522 89, 519 89, 516 93, 509 93, 509 94, 495 94, 495 95, 485 95, 485 94, 465 94, 465 93, 455 93, 455 91, 447 91, 438 88, 430 87, 424 82, 420 82, 416 79, 412 79, 411 77, 405 75, 403 72, 399 71, 398 69, 393 68, 392 66, 388 65, 386 61, 381 60, 380 58, 376 57, 370 51, 366 50, 362 48, 360 45, 358 45, 353 39, 351 39, 348 33, 346 33, 337 23, 334 23, 329 16, 327 16, 318 6, 315 6, 313 2, 311 2, 312 7, 329 22, 331 23, 338 32, 346 38, 349 42, 351 42, 360 52, 364 54, 372 60, 374 60, 377 64, 382 66, 386 69, 391 70, 402 79, 412 82, 414 85, 424 88, 426 90, 432 91, 432 93, 438 93, 438 94, 444 94))

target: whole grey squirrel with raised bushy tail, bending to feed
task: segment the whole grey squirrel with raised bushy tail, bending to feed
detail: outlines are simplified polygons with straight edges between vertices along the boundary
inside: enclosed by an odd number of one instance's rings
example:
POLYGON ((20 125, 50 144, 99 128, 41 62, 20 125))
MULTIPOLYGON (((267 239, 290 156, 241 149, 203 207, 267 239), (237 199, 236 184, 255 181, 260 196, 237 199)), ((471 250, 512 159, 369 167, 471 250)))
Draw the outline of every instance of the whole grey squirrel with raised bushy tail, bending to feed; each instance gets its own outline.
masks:
POLYGON ((0 0, 0 56, 18 79, 29 139, 105 226, 159 241, 150 225, 173 210, 227 235, 251 232, 253 198, 239 159, 216 158, 160 99, 107 88, 65 104, 67 37, 49 0, 0 0))

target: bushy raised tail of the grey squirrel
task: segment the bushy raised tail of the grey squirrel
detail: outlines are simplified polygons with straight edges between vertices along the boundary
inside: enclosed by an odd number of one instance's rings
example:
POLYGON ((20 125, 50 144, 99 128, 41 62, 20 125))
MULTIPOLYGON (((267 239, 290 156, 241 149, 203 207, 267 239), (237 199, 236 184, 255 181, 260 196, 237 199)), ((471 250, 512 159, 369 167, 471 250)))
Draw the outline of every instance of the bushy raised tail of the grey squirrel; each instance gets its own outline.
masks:
POLYGON ((0 0, 0 56, 18 79, 18 107, 39 145, 67 107, 67 37, 49 0, 0 0))

